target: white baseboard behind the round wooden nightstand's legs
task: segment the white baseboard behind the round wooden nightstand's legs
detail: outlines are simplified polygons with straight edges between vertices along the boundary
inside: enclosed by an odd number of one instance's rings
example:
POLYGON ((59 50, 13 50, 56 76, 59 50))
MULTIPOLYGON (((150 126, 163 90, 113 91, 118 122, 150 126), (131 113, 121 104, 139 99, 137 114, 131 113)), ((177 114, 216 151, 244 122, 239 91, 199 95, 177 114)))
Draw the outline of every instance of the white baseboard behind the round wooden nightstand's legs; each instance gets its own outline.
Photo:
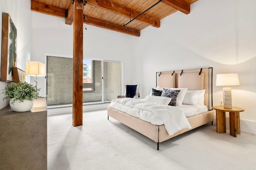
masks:
MULTIPOLYGON (((213 124, 216 125, 216 115, 213 124)), ((229 129, 229 117, 226 116, 226 128, 229 129)), ((256 135, 256 121, 240 119, 240 131, 256 135)))

